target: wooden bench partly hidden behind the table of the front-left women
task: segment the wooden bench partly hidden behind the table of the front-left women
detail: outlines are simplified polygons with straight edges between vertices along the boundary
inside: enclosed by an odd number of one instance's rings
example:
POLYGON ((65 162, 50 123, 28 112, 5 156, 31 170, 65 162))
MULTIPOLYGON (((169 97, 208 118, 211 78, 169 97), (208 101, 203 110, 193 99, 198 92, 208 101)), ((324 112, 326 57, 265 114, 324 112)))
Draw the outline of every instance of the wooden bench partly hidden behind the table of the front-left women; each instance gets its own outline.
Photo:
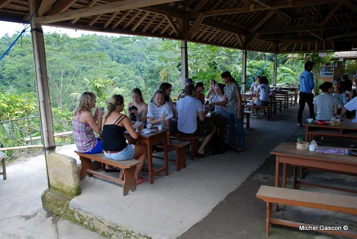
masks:
MULTIPOLYGON (((169 159, 169 161, 176 163, 176 171, 180 171, 181 168, 183 168, 183 169, 186 168, 185 152, 186 152, 186 148, 188 148, 188 146, 189 146, 189 142, 183 142, 183 141, 174 140, 174 139, 170 140, 170 145, 168 146, 168 149, 176 151, 176 160, 169 159)), ((155 145, 155 147, 161 148, 161 149, 164 148, 164 146, 160 145, 160 144, 155 145)), ((154 157, 158 158, 158 159, 164 159, 163 157, 160 157, 160 156, 154 156, 154 157)))

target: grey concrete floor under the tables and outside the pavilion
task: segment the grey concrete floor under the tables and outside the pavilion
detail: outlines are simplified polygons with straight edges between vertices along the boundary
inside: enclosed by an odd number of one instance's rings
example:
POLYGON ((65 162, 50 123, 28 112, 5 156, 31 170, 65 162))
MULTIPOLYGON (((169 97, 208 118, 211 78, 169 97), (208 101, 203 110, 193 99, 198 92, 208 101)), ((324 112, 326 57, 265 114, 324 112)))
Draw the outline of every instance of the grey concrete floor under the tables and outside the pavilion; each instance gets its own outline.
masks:
MULTIPOLYGON (((187 168, 180 172, 170 163, 169 177, 157 176, 154 184, 145 182, 125 197, 116 184, 86 178, 80 181, 82 194, 70 204, 152 238, 263 239, 265 204, 255 198, 255 193, 261 184, 273 185, 274 158, 270 150, 282 141, 304 135, 304 129, 296 126, 296 116, 297 107, 290 107, 271 121, 251 119, 251 129, 245 131, 247 152, 188 159, 187 168)), ((75 157, 73 145, 58 147, 57 152, 75 157)), ((162 161, 155 163, 160 165, 162 161)), ((7 174, 7 180, 0 179, 0 238, 101 238, 42 210, 40 195, 47 187, 43 156, 10 163, 7 174)), ((314 173, 307 177, 330 178, 314 173)), ((357 185, 356 177, 340 181, 357 185)), ((284 209, 282 217, 299 217, 304 222, 311 219, 308 211, 284 209)), ((337 221, 356 226, 355 217, 317 213, 314 218, 318 221, 332 220, 326 225, 337 221)), ((333 237, 273 227, 270 238, 333 237)))

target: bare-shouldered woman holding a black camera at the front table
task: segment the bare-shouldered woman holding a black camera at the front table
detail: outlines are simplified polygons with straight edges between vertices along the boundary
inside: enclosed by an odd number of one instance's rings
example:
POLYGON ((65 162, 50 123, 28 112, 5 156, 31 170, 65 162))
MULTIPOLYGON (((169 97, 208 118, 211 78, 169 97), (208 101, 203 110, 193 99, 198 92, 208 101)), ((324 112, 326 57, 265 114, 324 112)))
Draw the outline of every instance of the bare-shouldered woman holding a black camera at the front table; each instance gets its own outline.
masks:
POLYGON ((127 116, 133 122, 140 121, 146 123, 147 104, 144 102, 141 90, 134 88, 131 91, 132 102, 128 104, 127 116))

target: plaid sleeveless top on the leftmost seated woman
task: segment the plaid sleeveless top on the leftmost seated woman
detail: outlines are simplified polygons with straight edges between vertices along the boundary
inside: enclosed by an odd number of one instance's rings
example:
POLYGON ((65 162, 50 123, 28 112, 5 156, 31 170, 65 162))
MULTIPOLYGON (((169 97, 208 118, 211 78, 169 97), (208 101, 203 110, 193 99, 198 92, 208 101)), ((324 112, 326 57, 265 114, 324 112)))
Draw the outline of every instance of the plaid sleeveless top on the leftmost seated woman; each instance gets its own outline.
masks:
POLYGON ((88 123, 73 119, 73 137, 77 149, 81 153, 86 153, 94 149, 97 145, 97 138, 93 133, 93 129, 88 123))

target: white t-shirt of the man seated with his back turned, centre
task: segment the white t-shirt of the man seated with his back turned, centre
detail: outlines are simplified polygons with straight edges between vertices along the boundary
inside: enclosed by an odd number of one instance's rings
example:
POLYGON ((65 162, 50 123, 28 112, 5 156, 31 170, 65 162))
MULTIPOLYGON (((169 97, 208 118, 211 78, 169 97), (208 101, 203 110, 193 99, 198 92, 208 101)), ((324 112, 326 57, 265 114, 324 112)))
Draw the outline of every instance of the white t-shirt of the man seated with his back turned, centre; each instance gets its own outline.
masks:
POLYGON ((186 96, 176 104, 178 111, 178 129, 183 133, 194 133, 197 129, 198 112, 203 111, 202 102, 186 96))

